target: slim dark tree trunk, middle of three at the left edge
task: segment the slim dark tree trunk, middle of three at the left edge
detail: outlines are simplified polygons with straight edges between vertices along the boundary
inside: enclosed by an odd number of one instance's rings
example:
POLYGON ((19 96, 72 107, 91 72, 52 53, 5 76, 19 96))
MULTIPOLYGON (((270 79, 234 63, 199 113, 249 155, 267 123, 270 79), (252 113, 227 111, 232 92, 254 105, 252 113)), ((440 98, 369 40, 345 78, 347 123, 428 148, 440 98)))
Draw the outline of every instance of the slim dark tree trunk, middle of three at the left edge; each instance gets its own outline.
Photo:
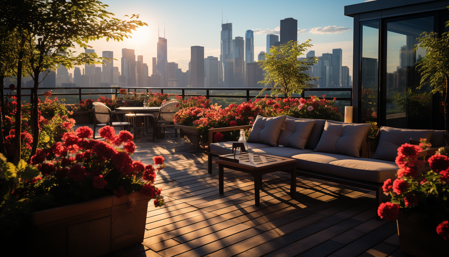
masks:
POLYGON ((19 58, 17 62, 17 109, 16 109, 16 133, 14 136, 14 164, 18 164, 21 155, 21 143, 20 133, 22 128, 22 63, 23 63, 23 47, 25 45, 25 40, 23 37, 20 40, 20 51, 19 58))

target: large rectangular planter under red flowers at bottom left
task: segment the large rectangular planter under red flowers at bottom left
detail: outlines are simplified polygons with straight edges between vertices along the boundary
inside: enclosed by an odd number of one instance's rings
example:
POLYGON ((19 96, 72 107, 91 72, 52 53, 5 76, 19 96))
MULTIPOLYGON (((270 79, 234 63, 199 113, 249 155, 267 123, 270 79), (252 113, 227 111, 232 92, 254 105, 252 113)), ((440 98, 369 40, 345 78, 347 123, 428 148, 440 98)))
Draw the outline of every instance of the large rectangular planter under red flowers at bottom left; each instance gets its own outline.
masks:
POLYGON ((133 192, 33 212, 33 254, 100 256, 142 243, 149 200, 133 192), (128 199, 134 201, 132 211, 128 211, 128 199))

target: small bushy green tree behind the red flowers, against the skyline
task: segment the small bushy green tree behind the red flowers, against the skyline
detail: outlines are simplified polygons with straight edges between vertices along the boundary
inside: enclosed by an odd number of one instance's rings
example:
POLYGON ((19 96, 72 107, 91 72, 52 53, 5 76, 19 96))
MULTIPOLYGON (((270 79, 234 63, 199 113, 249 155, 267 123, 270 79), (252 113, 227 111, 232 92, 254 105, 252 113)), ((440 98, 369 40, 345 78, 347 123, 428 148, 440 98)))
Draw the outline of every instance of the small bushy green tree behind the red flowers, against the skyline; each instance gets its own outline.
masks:
POLYGON ((310 57, 304 60, 298 60, 298 57, 303 55, 310 45, 308 39, 304 43, 299 44, 298 41, 289 41, 279 47, 272 47, 270 53, 265 53, 265 60, 262 67, 265 71, 265 78, 258 83, 264 84, 265 87, 260 94, 267 87, 271 87, 271 95, 284 95, 285 97, 291 94, 301 94, 304 87, 313 86, 307 83, 308 81, 317 80, 318 77, 310 77, 305 71, 318 62, 317 57, 310 57))

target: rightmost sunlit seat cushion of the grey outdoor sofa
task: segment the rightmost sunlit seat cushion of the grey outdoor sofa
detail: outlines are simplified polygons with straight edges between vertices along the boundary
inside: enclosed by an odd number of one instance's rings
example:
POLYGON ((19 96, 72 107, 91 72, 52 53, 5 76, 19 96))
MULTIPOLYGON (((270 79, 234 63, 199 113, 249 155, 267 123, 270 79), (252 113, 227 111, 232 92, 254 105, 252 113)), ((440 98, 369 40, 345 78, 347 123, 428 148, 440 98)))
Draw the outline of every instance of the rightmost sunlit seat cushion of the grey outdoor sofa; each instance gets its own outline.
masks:
POLYGON ((359 158, 356 160, 341 160, 330 162, 327 171, 330 175, 383 183, 387 179, 396 179, 397 167, 395 162, 359 158))

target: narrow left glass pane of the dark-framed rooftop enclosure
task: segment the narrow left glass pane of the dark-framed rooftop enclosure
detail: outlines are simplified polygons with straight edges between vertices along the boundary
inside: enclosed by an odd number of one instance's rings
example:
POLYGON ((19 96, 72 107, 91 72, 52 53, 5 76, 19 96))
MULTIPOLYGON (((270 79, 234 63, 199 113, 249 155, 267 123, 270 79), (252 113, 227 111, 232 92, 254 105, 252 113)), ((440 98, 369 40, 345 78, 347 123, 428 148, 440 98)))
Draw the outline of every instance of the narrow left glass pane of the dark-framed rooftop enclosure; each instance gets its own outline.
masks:
POLYGON ((361 120, 377 122, 379 22, 361 25, 361 120))

